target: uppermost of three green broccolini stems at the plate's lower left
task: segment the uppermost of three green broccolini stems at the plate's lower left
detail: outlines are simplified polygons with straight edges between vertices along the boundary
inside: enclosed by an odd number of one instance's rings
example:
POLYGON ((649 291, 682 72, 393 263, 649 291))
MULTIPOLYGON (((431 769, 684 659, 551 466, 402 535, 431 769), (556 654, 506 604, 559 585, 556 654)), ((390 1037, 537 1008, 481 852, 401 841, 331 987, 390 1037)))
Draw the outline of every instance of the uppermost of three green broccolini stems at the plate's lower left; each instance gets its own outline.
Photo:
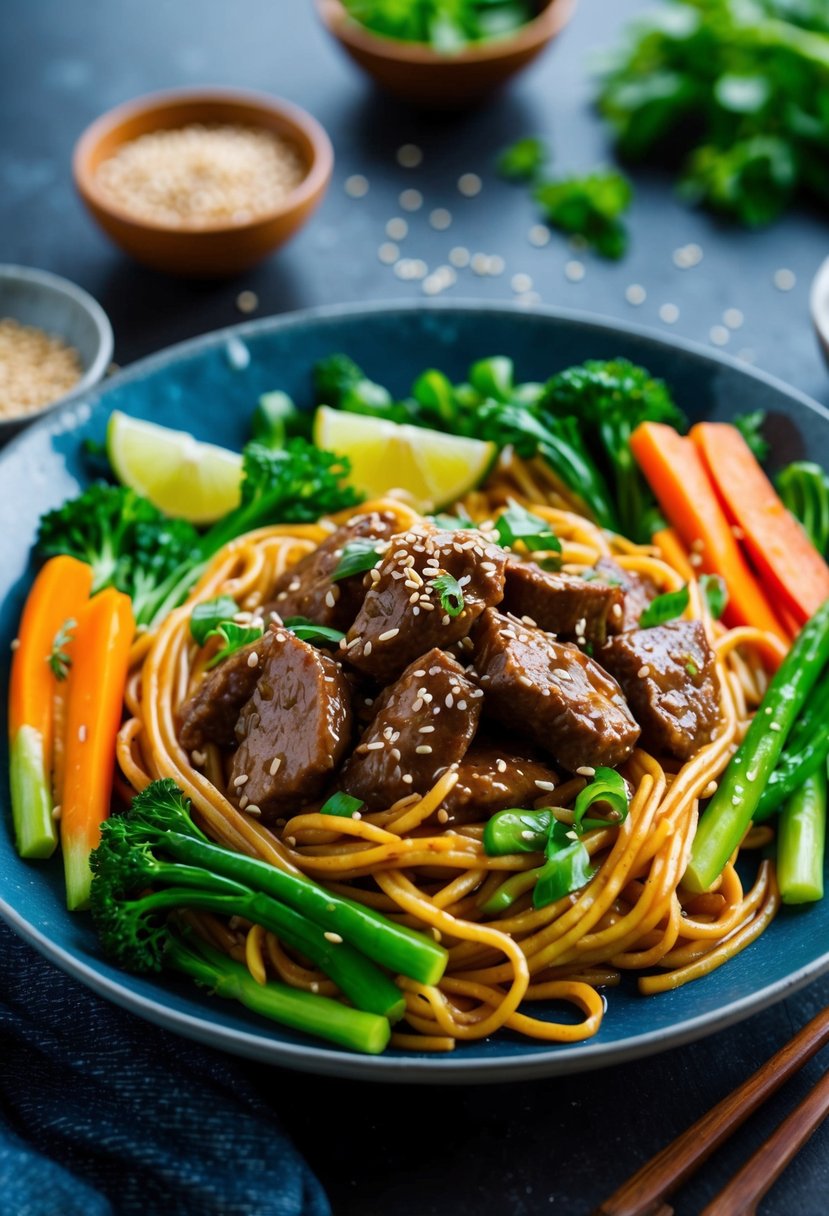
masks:
POLYGON ((422 933, 325 890, 309 878, 277 869, 267 862, 231 852, 221 845, 168 832, 160 841, 180 861, 236 879, 246 886, 284 901, 309 921, 339 933, 368 958, 421 984, 438 984, 449 955, 422 933))

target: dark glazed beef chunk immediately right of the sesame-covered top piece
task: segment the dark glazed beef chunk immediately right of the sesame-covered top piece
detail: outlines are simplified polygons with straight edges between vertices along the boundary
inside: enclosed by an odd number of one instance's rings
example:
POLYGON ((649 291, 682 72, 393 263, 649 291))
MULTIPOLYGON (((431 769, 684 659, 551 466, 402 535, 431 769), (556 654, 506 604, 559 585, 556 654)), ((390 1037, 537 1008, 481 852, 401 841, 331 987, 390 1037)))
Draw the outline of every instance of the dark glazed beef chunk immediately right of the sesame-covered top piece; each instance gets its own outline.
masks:
POLYGON ((571 574, 542 570, 535 562, 507 562, 503 610, 529 617, 540 629, 583 644, 600 646, 608 620, 619 604, 624 612, 625 592, 605 582, 588 581, 571 574))

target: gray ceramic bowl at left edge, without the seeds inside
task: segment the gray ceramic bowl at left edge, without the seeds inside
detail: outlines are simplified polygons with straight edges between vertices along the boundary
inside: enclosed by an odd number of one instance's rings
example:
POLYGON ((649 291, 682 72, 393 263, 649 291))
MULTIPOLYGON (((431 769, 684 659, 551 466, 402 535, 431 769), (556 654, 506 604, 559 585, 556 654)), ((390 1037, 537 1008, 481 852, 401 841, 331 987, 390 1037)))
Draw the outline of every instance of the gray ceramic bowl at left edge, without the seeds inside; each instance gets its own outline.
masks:
POLYGON ((0 417, 0 445, 35 418, 96 384, 112 360, 112 326, 92 297, 58 275, 29 266, 0 265, 0 317, 36 326, 74 347, 83 376, 69 393, 11 418, 0 417))

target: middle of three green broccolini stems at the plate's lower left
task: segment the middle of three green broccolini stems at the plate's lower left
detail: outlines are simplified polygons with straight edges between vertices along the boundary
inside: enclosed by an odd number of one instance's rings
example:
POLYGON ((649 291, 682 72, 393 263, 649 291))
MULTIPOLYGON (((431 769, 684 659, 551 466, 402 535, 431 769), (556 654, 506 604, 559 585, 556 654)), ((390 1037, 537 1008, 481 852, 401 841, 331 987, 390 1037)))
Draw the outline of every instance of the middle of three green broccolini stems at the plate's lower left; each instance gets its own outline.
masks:
MULTIPOLYGON (((222 880, 222 886, 226 885, 222 880)), ((269 895, 239 886, 239 894, 219 894, 188 886, 169 886, 136 901, 136 911, 202 908, 218 916, 243 917, 270 929, 328 975, 344 996, 368 1013, 397 1021, 405 1012, 400 989, 368 958, 345 941, 332 941, 318 925, 269 895)))

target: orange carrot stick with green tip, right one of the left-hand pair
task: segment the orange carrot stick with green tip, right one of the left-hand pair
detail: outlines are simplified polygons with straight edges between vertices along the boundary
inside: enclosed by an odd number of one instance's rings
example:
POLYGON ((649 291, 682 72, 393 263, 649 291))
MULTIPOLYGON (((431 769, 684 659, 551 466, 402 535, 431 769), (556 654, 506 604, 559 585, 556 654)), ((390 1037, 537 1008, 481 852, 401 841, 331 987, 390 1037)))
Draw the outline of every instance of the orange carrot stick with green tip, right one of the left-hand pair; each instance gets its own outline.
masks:
POLYGON ((98 592, 78 617, 67 703, 61 850, 69 911, 89 903, 89 855, 109 815, 135 621, 129 596, 98 592))

